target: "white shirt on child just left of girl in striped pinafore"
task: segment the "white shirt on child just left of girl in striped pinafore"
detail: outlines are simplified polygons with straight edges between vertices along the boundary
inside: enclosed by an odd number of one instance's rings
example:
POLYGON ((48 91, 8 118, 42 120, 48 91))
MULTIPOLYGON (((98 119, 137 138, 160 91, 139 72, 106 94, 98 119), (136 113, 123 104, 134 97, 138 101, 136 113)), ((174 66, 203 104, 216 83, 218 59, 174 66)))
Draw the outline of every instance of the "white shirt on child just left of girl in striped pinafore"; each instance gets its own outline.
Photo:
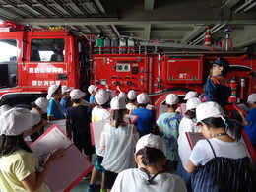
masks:
POLYGON ((182 162, 182 165, 187 169, 187 162, 191 153, 191 148, 189 146, 187 136, 185 132, 201 132, 199 126, 189 118, 183 117, 179 124, 179 136, 178 136, 178 155, 182 162))

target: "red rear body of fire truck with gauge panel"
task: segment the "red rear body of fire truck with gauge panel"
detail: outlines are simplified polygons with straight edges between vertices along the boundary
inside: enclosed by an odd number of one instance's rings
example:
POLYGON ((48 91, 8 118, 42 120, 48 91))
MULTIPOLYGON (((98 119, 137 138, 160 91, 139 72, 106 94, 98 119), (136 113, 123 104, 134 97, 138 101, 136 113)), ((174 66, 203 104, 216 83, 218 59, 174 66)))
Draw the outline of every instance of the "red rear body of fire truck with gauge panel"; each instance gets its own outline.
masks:
POLYGON ((99 87, 108 84, 112 90, 119 85, 124 92, 133 89, 148 93, 153 103, 160 106, 169 93, 181 97, 188 91, 202 94, 212 66, 210 61, 220 56, 230 63, 229 101, 246 102, 247 96, 255 91, 256 57, 244 52, 190 50, 156 54, 131 47, 101 47, 93 55, 92 83, 99 87))

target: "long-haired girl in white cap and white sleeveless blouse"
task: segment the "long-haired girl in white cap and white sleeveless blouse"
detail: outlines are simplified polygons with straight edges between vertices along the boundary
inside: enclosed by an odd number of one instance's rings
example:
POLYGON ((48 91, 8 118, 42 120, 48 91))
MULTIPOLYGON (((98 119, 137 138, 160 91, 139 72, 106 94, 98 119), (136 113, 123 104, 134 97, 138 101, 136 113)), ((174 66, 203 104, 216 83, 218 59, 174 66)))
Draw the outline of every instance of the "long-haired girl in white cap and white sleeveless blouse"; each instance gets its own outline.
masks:
POLYGON ((115 96, 110 102, 113 121, 105 124, 100 145, 105 149, 102 166, 105 169, 105 187, 110 191, 118 173, 135 167, 133 153, 138 133, 136 127, 124 121, 126 104, 122 97, 115 96))

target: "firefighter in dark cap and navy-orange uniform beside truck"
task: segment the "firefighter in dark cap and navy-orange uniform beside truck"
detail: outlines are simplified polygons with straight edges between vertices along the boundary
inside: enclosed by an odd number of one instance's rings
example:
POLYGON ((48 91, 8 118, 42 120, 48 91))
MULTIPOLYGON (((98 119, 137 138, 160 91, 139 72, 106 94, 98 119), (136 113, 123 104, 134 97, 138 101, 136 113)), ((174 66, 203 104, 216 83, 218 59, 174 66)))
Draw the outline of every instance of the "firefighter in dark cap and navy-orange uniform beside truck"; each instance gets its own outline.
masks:
POLYGON ((207 79, 204 93, 201 96, 202 102, 215 101, 224 108, 228 97, 231 96, 229 82, 225 79, 228 68, 229 62, 223 57, 219 57, 213 63, 212 76, 207 79))

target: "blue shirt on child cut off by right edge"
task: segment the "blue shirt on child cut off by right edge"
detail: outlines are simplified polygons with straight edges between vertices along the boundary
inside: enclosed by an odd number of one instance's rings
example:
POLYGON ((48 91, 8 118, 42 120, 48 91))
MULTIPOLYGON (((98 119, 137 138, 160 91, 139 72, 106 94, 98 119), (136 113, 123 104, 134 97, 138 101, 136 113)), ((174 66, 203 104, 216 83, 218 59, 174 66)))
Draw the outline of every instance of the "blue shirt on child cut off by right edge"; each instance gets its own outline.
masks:
POLYGON ((245 126, 245 132, 247 133, 250 142, 256 144, 256 108, 249 110, 245 120, 250 123, 245 126))

